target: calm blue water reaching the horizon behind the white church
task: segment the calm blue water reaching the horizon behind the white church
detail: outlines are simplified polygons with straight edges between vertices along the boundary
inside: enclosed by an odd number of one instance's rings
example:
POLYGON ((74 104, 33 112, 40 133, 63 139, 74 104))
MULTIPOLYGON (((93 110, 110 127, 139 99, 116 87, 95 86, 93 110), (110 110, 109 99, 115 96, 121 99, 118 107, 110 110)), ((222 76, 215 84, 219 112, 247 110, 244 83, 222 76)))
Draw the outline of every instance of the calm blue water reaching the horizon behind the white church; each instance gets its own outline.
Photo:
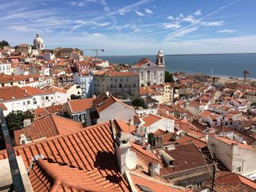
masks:
MULTIPOLYGON (((141 58, 156 61, 156 55, 116 55, 101 56, 115 64, 135 64, 141 58)), ((243 77, 243 71, 249 71, 248 79, 256 78, 256 53, 214 53, 165 55, 168 72, 205 73, 214 76, 243 77)))

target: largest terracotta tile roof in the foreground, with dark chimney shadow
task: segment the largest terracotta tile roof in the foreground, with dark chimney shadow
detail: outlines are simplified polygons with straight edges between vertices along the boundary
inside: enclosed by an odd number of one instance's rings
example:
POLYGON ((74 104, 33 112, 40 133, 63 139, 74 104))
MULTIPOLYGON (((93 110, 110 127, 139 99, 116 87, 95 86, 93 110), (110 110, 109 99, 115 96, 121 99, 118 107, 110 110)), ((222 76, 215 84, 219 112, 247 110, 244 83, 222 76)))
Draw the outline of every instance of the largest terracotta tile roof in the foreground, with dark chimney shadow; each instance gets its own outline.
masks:
MULTIPOLYGON (((88 178, 90 182, 81 181, 82 177, 80 175, 85 176, 85 174, 89 175, 92 180, 97 181, 99 188, 129 191, 127 182, 118 171, 110 123, 101 123, 70 134, 20 145, 14 147, 14 150, 15 155, 22 156, 26 168, 31 164, 31 158, 34 155, 42 154, 45 160, 50 162, 50 165, 48 164, 45 168, 41 163, 47 164, 47 162, 40 162, 39 160, 36 163, 39 166, 32 167, 31 176, 29 177, 34 191, 41 191, 40 188, 37 188, 37 183, 41 186, 43 183, 52 191, 62 191, 61 185, 64 185, 64 190, 65 187, 69 189, 69 184, 74 184, 72 186, 75 188, 72 188, 72 191, 76 191, 76 187, 81 186, 83 188, 85 184, 87 184, 88 189, 94 188, 96 184, 88 177, 83 178, 85 180, 88 178), (56 164, 53 165, 53 163, 56 164), (62 181, 65 182, 55 183, 55 185, 50 183, 49 174, 53 175, 53 170, 56 174, 62 172, 61 180, 63 179, 62 181), (78 170, 80 171, 79 176, 78 170), (32 177, 32 172, 37 175, 32 177), (45 174, 41 174, 42 172, 45 174), (47 176, 44 177, 44 175, 47 176), (67 175, 69 177, 66 177, 67 175), (99 179, 101 177, 102 179, 99 179)), ((7 150, 0 151, 0 159, 3 158, 7 158, 7 150)))

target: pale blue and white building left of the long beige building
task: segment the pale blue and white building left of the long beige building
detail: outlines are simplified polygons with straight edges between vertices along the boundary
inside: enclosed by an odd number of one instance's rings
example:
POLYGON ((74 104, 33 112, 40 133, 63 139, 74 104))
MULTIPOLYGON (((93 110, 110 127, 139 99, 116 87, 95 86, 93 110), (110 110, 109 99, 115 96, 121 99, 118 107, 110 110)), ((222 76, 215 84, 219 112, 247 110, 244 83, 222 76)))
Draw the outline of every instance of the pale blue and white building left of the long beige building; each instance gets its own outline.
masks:
POLYGON ((80 85, 83 98, 89 98, 94 95, 94 76, 76 73, 73 75, 73 80, 75 84, 80 85))

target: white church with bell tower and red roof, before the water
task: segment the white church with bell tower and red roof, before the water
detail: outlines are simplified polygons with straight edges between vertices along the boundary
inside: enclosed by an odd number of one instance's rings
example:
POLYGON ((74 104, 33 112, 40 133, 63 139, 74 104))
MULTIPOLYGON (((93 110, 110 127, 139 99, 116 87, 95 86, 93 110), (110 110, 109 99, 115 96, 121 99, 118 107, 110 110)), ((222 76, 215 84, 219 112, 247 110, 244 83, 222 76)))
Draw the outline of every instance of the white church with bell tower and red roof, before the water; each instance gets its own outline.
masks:
POLYGON ((139 75, 140 86, 158 85, 165 83, 165 55, 162 50, 157 53, 157 61, 153 63, 149 58, 143 58, 131 66, 130 72, 139 75))

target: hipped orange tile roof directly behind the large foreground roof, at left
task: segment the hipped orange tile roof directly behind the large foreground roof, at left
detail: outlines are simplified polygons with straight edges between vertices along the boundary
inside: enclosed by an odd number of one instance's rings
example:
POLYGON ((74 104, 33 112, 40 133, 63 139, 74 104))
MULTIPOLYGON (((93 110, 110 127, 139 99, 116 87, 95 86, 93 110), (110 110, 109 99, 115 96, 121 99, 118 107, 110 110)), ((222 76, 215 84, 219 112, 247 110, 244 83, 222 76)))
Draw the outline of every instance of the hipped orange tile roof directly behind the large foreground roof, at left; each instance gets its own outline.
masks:
POLYGON ((26 137, 34 141, 44 137, 49 138, 59 134, 67 134, 80 128, 83 128, 80 122, 59 115, 48 115, 34 120, 31 126, 15 130, 15 144, 20 145, 20 134, 25 134, 26 137))

